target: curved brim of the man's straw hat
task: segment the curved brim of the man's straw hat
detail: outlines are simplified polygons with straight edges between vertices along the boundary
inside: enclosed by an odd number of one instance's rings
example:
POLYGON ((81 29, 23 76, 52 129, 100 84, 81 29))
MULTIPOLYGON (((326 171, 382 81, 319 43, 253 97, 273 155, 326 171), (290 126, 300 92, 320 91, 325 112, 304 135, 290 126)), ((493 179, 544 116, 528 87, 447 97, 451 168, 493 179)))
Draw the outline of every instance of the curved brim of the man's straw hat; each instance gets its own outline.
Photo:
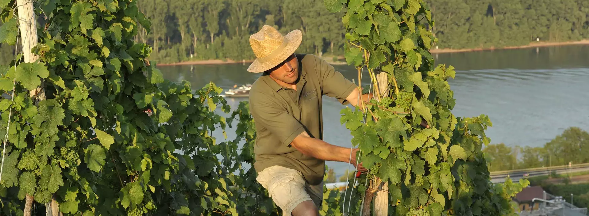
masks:
POLYGON ((296 49, 299 48, 300 42, 303 40, 303 33, 300 32, 299 29, 296 29, 284 35, 284 38, 288 39, 289 42, 286 44, 286 48, 284 48, 284 50, 282 50, 282 52, 277 55, 276 58, 267 62, 260 62, 256 59, 254 62, 252 62, 252 65, 247 67, 247 71, 252 73, 261 73, 272 69, 272 67, 275 67, 276 65, 279 65, 281 62, 289 58, 289 56, 292 55, 296 49))

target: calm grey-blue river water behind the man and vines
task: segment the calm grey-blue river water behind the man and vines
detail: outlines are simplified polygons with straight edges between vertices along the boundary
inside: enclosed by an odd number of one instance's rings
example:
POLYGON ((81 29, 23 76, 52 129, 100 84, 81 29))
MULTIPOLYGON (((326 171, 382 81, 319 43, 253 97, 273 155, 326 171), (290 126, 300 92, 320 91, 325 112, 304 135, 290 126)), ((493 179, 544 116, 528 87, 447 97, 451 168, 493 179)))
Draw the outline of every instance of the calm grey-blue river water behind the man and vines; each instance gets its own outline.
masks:
MULTIPOLYGON (((448 80, 456 99, 452 110, 455 116, 487 114, 493 123, 487 130, 491 143, 532 147, 544 145, 567 127, 589 131, 588 56, 588 45, 434 54, 436 65, 445 63, 456 68, 456 78, 448 80)), ((247 72, 247 66, 237 63, 158 68, 166 79, 187 80, 194 89, 209 82, 229 89, 253 83, 260 76, 247 72)), ((357 81, 353 66, 334 67, 357 81)), ((362 85, 369 84, 368 76, 362 80, 362 85)), ((227 98, 227 103, 237 107, 242 100, 247 98, 227 98)), ((350 147, 352 136, 340 124, 343 108, 335 99, 323 100, 324 139, 350 147)), ((223 141, 223 135, 217 132, 217 141, 223 141)), ((234 139, 234 130, 228 128, 227 135, 234 139)), ((348 168, 347 163, 332 161, 327 166, 335 168, 337 176, 348 168)))

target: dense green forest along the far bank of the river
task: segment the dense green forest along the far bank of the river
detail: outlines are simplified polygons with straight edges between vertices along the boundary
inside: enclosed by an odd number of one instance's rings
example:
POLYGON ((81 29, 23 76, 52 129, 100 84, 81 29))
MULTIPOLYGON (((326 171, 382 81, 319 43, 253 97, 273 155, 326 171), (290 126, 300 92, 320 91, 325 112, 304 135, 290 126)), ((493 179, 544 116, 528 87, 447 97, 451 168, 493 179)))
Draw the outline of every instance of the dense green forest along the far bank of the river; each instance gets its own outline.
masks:
MULTIPOLYGON (((587 0, 425 1, 440 49, 589 38, 587 0)), ((300 29, 304 38, 298 52, 343 54, 343 11, 332 14, 321 0, 138 0, 138 5, 152 25, 148 34, 140 29, 135 40, 152 45, 150 59, 158 62, 252 59, 248 38, 262 25, 282 33, 300 29)), ((14 50, 1 46, 0 63, 5 64, 14 50)))

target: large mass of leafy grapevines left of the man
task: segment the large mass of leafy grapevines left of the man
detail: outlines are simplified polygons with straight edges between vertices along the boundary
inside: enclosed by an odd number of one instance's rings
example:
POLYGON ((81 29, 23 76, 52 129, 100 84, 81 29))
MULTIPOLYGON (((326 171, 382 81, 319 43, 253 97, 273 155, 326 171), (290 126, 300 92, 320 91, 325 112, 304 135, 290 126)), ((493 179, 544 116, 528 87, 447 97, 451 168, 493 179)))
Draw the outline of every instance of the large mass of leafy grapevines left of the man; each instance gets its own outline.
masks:
MULTIPOLYGON (((4 35, 18 33, 15 4, 0 5, 4 35)), ((9 137, 2 215, 22 214, 25 195, 38 203, 36 215, 52 199, 65 215, 276 212, 253 169, 243 168, 255 139, 247 106, 226 123, 215 113, 229 112, 219 87, 164 80, 147 60, 151 47, 132 40, 139 25, 150 27, 136 1, 46 1, 35 11, 47 15, 32 50, 39 60, 13 60, 0 77, 0 93, 16 80, 14 102, 0 98, 0 136, 9 137), (39 85, 46 100, 29 95, 39 85), (213 131, 234 119, 236 140, 217 143, 213 131)))

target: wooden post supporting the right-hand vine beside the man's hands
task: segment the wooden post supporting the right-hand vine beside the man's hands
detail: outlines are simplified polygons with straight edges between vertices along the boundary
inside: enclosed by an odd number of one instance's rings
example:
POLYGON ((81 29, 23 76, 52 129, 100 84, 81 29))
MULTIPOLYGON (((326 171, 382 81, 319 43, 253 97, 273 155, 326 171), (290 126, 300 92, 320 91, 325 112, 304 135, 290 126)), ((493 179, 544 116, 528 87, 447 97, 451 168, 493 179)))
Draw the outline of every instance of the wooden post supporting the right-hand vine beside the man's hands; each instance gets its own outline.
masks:
MULTIPOLYGON (((376 82, 378 82, 378 88, 380 90, 380 94, 383 97, 389 96, 389 76, 382 71, 377 70, 376 72, 376 82)), ((389 214, 389 184, 388 181, 382 182, 380 179, 373 180, 376 185, 377 191, 374 197, 374 215, 375 216, 386 216, 389 214)))

